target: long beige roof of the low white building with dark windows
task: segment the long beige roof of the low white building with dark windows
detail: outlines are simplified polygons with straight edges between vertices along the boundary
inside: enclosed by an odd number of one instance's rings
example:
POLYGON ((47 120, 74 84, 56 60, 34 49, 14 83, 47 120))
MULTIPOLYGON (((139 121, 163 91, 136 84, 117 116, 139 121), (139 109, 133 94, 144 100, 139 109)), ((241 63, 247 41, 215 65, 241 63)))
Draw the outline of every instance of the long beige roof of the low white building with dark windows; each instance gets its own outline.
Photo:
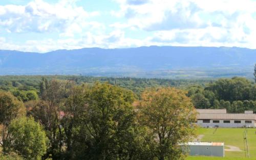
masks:
POLYGON ((198 114, 197 119, 255 120, 255 114, 198 114))

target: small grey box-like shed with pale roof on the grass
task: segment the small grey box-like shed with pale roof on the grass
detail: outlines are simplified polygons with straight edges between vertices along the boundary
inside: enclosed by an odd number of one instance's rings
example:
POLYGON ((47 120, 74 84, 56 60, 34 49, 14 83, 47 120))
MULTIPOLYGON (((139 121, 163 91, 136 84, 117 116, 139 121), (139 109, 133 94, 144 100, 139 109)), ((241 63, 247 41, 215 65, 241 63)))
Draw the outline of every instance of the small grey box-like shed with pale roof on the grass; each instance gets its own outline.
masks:
POLYGON ((225 156, 224 143, 218 142, 188 142, 189 155, 225 156))

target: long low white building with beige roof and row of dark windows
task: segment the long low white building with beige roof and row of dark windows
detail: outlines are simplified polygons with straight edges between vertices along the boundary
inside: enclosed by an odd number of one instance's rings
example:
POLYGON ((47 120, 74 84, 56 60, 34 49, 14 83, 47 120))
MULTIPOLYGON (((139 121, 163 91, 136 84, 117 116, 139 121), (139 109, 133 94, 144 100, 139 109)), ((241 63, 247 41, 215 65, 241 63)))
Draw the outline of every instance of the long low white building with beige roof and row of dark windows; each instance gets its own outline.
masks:
POLYGON ((196 124, 202 127, 255 127, 256 116, 252 111, 244 114, 228 114, 226 109, 197 109, 196 124))

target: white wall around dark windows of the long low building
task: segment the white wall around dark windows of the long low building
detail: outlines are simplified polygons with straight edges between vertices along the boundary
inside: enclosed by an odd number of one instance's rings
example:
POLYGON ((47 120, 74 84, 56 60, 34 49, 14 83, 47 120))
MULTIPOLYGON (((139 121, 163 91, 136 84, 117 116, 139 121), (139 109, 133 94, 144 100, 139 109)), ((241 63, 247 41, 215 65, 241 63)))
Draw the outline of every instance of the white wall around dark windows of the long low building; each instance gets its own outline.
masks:
POLYGON ((251 120, 251 123, 245 123, 245 120, 240 120, 241 123, 234 123, 234 120, 230 120, 230 123, 224 123, 223 120, 219 120, 220 123, 213 123, 213 120, 210 120, 210 123, 203 123, 203 120, 198 120, 196 124, 201 127, 215 127, 218 125, 219 127, 226 127, 226 128, 237 128, 237 127, 244 127, 250 126, 254 127, 254 120, 251 120))

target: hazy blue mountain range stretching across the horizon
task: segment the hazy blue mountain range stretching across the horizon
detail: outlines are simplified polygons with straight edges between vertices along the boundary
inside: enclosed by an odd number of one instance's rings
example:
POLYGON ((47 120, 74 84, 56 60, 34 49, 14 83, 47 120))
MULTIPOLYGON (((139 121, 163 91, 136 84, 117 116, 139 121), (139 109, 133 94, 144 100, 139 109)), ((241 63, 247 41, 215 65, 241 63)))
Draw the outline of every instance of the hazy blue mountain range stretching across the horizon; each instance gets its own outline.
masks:
POLYGON ((82 74, 133 77, 252 77, 256 49, 148 46, 82 48, 40 54, 0 50, 0 74, 82 74))

